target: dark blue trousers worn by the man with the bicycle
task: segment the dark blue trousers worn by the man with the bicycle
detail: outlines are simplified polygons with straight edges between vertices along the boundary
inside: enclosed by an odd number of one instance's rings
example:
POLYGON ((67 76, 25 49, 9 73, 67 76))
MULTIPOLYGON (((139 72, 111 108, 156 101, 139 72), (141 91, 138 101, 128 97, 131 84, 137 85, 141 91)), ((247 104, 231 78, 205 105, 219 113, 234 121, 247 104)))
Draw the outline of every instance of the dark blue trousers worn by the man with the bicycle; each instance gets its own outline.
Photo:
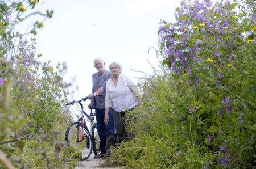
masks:
POLYGON ((95 109, 96 113, 96 120, 97 120, 97 128, 98 128, 98 135, 100 136, 100 151, 102 154, 106 153, 106 136, 107 133, 110 132, 113 135, 115 134, 115 126, 114 126, 114 117, 113 117, 113 110, 110 108, 109 111, 109 124, 105 125, 104 118, 105 118, 105 109, 95 109))

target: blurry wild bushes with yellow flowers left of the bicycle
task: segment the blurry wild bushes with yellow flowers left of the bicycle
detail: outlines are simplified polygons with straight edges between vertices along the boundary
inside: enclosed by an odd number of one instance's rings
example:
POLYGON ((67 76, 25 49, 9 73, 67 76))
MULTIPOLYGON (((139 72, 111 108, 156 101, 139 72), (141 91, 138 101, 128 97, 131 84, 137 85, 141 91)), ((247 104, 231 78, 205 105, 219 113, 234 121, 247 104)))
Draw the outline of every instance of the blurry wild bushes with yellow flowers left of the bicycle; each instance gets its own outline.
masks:
POLYGON ((75 151, 65 147, 64 130, 70 116, 63 107, 67 84, 56 69, 41 64, 36 31, 53 11, 30 12, 39 3, 0 0, 0 168, 72 167, 75 151), (30 12, 30 13, 29 13, 30 12), (16 26, 32 15, 42 16, 29 32, 16 26))

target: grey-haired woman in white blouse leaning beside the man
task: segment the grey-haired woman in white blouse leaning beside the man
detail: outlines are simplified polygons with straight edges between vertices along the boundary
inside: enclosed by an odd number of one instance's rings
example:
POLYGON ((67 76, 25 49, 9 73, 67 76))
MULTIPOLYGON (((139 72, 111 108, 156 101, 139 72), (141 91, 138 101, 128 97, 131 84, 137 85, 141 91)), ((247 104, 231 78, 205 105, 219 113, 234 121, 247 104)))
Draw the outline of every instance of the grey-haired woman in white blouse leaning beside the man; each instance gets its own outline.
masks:
POLYGON ((134 81, 122 74, 122 67, 117 62, 109 65, 112 78, 106 82, 106 100, 105 100, 105 123, 109 122, 109 109, 112 107, 114 112, 114 124, 118 142, 121 142, 127 136, 125 132, 126 110, 133 110, 135 106, 141 104, 141 98, 138 87, 134 81))

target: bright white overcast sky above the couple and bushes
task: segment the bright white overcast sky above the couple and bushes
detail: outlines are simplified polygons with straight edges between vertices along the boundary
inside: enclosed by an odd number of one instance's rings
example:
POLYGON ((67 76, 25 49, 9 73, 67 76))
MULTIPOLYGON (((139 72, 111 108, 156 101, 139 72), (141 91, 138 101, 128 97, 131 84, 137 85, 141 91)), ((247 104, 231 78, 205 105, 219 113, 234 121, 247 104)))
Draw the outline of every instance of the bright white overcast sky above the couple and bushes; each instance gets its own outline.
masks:
MULTIPOLYGON (((151 47, 158 48, 160 19, 174 21, 179 1, 167 0, 44 0, 38 9, 54 10, 53 18, 38 31, 37 51, 40 61, 51 65, 65 62, 64 81, 77 86, 74 99, 87 96, 92 90, 94 58, 101 57, 109 69, 117 61, 123 74, 143 77, 152 74, 158 59, 151 47)), ((40 21, 40 18, 32 20, 40 21)), ((25 28, 25 27, 24 27, 25 28)))

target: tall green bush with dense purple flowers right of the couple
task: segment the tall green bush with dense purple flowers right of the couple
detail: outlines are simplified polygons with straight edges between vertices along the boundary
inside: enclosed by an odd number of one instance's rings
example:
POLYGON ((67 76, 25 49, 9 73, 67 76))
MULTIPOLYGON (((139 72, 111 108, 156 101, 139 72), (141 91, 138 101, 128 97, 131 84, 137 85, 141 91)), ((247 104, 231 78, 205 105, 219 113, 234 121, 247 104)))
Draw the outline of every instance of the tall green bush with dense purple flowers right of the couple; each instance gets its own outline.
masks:
POLYGON ((147 79, 127 123, 137 138, 108 162, 255 167, 255 2, 182 1, 175 18, 159 27, 164 74, 147 79))

